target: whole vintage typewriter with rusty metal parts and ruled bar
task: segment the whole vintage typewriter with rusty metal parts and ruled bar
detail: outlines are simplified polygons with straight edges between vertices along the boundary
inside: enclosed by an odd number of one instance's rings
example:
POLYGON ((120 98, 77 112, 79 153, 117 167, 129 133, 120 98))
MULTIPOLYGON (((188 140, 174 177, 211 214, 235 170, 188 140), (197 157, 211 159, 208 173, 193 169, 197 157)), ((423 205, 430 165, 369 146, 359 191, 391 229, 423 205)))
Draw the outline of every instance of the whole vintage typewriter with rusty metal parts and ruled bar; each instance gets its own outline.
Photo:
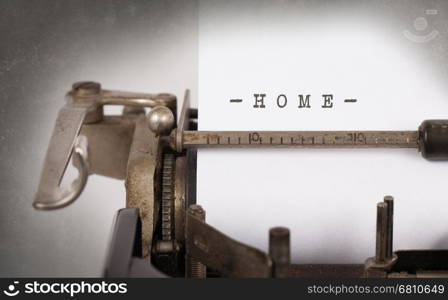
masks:
POLYGON ((126 208, 116 216, 105 277, 448 277, 448 250, 393 250, 392 196, 377 205, 374 256, 360 264, 291 264, 287 228, 269 231, 265 253, 208 225, 196 204, 198 148, 401 147, 448 160, 447 120, 424 121, 416 131, 198 131, 188 91, 178 110, 172 94, 79 82, 59 112, 33 205, 69 205, 89 174, 125 180, 126 208), (123 112, 105 116, 105 105, 123 112), (64 187, 70 159, 79 174, 64 187))

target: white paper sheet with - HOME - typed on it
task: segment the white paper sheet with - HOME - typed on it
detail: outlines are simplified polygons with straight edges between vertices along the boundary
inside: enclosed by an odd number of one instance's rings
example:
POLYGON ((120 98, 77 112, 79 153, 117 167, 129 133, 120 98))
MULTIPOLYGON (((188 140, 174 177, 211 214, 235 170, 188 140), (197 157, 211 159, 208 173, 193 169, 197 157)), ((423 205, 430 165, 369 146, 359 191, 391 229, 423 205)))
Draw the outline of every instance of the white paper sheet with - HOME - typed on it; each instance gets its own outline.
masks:
MULTIPOLYGON (((384 11, 207 3, 200 130, 416 130, 448 118, 431 45, 406 39, 384 11), (264 109, 253 107, 255 93, 266 94, 264 109), (298 108, 298 94, 310 95, 311 108, 298 108), (321 107, 322 94, 333 108, 321 107)), ((389 194, 395 249, 448 247, 447 178, 448 163, 415 149, 206 149, 197 196, 207 221, 240 241, 267 250, 268 229, 287 226, 294 262, 362 263, 374 254, 376 203, 389 194)))

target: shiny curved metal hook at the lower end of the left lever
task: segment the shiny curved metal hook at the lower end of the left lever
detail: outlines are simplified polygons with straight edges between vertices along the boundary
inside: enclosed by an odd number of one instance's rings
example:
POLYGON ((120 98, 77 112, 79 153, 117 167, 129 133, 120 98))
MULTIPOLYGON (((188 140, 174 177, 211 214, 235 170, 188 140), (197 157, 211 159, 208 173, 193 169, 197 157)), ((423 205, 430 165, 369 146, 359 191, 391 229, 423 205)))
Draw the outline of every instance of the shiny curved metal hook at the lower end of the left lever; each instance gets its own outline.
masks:
POLYGON ((41 186, 33 206, 37 209, 50 210, 62 208, 75 201, 84 190, 89 176, 87 138, 76 138, 72 154, 73 165, 78 169, 78 177, 68 187, 41 186))

